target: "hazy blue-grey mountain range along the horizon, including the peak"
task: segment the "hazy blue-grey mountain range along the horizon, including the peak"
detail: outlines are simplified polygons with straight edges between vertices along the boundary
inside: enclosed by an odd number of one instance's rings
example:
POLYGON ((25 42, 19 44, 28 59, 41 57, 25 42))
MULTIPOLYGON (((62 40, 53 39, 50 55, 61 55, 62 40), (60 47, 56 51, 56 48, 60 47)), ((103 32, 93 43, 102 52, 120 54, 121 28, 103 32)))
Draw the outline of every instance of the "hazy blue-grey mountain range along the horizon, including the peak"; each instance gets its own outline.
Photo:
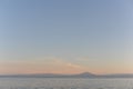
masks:
POLYGON ((57 73, 37 73, 37 75, 3 75, 0 78, 133 78, 133 73, 116 73, 116 75, 93 75, 82 72, 78 75, 57 75, 57 73))

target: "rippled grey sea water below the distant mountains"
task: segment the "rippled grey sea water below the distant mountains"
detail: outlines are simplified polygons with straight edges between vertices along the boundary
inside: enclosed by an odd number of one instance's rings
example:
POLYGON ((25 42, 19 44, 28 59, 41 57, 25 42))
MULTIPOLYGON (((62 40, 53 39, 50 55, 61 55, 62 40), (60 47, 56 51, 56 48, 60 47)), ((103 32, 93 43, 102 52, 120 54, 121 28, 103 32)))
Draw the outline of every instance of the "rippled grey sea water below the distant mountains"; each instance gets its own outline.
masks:
POLYGON ((0 78, 0 89, 133 89, 133 79, 0 78))

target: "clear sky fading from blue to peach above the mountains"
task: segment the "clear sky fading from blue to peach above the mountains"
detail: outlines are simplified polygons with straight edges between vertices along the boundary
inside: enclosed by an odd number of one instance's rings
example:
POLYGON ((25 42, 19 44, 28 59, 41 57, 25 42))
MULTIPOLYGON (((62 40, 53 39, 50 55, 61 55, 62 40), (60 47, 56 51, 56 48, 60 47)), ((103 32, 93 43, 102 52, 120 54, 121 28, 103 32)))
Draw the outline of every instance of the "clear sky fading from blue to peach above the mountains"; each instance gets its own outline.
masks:
POLYGON ((0 73, 133 73, 133 0, 0 0, 0 73))

